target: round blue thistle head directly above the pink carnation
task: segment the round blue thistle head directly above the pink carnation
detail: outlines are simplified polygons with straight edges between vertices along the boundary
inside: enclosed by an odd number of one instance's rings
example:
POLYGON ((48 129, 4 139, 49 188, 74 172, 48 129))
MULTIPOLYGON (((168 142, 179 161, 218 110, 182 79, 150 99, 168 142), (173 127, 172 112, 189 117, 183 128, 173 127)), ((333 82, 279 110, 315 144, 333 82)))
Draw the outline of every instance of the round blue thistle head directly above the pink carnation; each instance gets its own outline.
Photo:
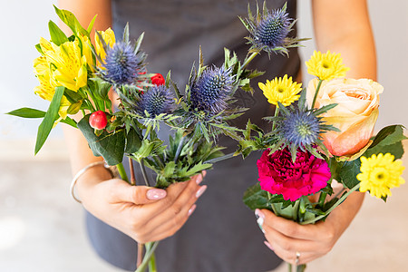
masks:
POLYGON ((320 121, 312 112, 289 112, 280 123, 282 136, 297 147, 307 147, 319 139, 320 121))

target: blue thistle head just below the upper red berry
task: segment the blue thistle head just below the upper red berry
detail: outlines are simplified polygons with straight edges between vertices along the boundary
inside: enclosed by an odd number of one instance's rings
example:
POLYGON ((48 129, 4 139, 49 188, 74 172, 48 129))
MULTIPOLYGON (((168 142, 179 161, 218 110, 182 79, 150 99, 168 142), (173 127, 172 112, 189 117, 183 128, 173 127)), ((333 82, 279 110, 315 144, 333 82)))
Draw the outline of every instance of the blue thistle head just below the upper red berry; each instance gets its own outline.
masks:
POLYGON ((174 96, 165 85, 153 86, 141 95, 141 101, 136 104, 136 111, 145 116, 145 111, 152 118, 161 113, 170 113, 174 106, 174 96))

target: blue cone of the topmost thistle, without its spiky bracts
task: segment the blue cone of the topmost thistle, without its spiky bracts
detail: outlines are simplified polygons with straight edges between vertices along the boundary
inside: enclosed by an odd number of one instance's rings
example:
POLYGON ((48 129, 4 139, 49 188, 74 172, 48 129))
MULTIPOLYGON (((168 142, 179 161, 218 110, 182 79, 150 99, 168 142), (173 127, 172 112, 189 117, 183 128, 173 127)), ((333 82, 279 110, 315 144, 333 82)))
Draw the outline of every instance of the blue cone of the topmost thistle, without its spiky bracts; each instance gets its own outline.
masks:
POLYGON ((290 24, 293 21, 283 10, 274 10, 264 16, 256 25, 254 31, 254 41, 257 47, 282 47, 290 31, 290 24))

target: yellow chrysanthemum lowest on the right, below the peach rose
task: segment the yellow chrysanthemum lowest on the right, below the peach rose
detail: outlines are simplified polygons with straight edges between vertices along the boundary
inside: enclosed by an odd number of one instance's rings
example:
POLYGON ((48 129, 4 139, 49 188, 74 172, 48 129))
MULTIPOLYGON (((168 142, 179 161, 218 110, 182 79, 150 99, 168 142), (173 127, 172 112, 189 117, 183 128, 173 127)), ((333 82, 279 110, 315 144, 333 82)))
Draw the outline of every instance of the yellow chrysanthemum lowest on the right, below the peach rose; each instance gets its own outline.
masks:
POLYGON ((370 191, 377 198, 391 196, 391 188, 399 187, 405 180, 401 177, 404 167, 402 160, 393 160, 390 153, 375 154, 370 158, 360 157, 361 173, 357 175, 360 180, 360 191, 370 191))

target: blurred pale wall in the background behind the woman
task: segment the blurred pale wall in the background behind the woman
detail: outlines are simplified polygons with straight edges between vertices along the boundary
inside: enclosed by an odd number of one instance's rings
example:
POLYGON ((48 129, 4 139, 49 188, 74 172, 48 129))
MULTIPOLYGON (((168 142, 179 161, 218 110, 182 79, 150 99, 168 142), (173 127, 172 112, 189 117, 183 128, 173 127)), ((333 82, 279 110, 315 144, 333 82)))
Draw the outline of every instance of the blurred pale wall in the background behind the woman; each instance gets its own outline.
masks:
MULTIPOLYGON (((41 36, 49 38, 47 23, 56 21, 53 0, 1 1, 0 25, 0 146, 16 140, 34 141, 37 120, 26 120, 3 114, 23 106, 46 110, 48 102, 34 95, 37 85, 33 73, 33 60, 38 56, 34 48, 41 36), (3 143, 3 144, 1 144, 3 143)), ((299 2, 300 36, 313 37, 309 1, 299 2)), ((408 127, 408 1, 369 1, 378 54, 378 81, 384 85, 381 96, 381 115, 377 128, 402 123, 408 127)), ((306 42, 303 50, 307 59, 314 43, 306 42)), ((305 73, 304 73, 305 74, 305 73)), ((51 133, 51 140, 63 138, 61 128, 51 133)), ((30 154, 33 147, 30 147, 30 154)), ((0 152, 1 153, 1 152, 0 152)))

